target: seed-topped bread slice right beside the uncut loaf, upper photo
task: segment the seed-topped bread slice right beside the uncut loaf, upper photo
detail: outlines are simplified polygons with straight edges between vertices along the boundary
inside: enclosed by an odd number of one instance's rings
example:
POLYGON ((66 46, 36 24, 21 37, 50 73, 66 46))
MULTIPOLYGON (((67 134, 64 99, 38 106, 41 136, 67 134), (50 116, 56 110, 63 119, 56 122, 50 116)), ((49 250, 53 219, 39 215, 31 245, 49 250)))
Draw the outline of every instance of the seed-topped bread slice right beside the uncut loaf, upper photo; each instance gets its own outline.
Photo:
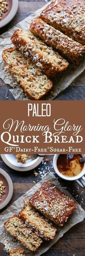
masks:
POLYGON ((79 64, 85 53, 85 46, 75 42, 67 35, 64 35, 54 27, 37 18, 30 25, 30 30, 37 37, 44 40, 44 43, 60 51, 64 57, 74 64, 79 64))

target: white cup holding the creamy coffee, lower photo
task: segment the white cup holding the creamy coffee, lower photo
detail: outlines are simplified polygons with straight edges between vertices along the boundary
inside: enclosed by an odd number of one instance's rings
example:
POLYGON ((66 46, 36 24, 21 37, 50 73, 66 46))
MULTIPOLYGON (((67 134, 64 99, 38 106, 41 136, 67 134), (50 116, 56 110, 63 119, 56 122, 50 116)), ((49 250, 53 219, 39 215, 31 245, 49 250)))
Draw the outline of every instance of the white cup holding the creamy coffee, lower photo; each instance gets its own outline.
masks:
MULTIPOLYGON (((82 157, 85 157, 85 154, 81 154, 82 157)), ((80 179, 82 176, 84 176, 85 174, 85 162, 84 162, 84 167, 82 169, 82 171, 76 175, 76 176, 73 176, 73 177, 68 177, 68 176, 65 176, 63 175, 61 172, 58 171, 58 168, 57 168, 57 159, 58 159, 58 156, 59 154, 55 154, 54 155, 54 158, 53 158, 53 166, 54 166, 54 170, 55 170, 55 173, 61 177, 62 179, 64 180, 77 180, 77 179, 80 179)))

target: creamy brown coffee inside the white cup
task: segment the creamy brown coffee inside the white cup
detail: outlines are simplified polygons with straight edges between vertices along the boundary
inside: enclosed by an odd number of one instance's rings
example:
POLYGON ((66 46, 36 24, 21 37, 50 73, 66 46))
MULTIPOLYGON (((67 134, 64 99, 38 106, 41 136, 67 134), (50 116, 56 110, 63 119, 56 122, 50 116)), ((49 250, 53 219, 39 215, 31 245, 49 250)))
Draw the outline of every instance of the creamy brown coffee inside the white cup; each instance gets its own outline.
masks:
POLYGON ((58 171, 68 177, 78 175, 84 167, 84 162, 79 162, 80 158, 82 158, 81 154, 60 154, 57 159, 58 171))

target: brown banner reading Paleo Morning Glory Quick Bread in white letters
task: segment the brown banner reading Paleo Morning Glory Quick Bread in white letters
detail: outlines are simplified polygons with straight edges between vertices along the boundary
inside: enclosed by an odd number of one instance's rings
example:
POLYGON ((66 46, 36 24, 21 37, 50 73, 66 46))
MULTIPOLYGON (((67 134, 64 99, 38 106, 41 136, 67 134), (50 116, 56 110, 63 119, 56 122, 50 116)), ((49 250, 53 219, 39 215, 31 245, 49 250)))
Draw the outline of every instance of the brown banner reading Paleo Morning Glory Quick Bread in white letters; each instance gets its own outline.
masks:
POLYGON ((0 101, 0 153, 85 153, 85 101, 0 101))

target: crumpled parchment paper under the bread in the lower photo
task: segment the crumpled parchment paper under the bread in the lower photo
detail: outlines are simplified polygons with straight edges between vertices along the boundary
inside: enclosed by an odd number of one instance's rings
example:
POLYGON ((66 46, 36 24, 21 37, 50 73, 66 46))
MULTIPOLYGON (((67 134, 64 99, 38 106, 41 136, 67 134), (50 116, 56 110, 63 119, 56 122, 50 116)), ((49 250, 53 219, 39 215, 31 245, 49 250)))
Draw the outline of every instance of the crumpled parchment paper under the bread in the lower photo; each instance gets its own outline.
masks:
MULTIPOLYGON (((32 187, 27 193, 23 196, 21 196, 18 200, 16 200, 12 205, 10 205, 0 216, 0 242, 3 244, 6 244, 8 242, 8 248, 23 248, 21 244, 17 244, 17 242, 13 243, 12 242, 12 237, 8 234, 8 232, 5 231, 4 229, 4 222, 7 221, 7 219, 13 214, 18 214, 21 209, 24 206, 23 199, 28 200, 30 197, 41 187, 41 185, 45 182, 45 180, 50 180, 55 186, 57 186, 59 189, 61 189, 66 195, 70 196, 72 199, 73 197, 70 195, 70 193, 64 189, 62 189, 61 185, 59 184, 57 178, 55 178, 54 174, 50 172, 50 174, 46 175, 44 179, 42 179, 39 183, 37 183, 34 187, 32 187), (3 237, 3 233, 4 234, 3 237), (6 239, 10 239, 6 241, 6 239)), ((75 201, 75 199, 73 199, 75 201)), ((36 253, 33 255, 35 256, 40 256, 42 253, 46 252, 54 243, 58 241, 59 238, 63 236, 65 232, 67 232, 71 227, 73 227, 75 224, 83 221, 85 218, 85 212, 81 208, 81 206, 78 204, 77 209, 75 212, 72 214, 70 219, 67 221, 67 223, 64 225, 64 227, 58 227, 58 232, 55 236, 55 238, 51 242, 43 242, 40 248, 37 250, 36 253)), ((25 250, 27 252, 27 255, 30 255, 30 252, 28 250, 25 250)))

